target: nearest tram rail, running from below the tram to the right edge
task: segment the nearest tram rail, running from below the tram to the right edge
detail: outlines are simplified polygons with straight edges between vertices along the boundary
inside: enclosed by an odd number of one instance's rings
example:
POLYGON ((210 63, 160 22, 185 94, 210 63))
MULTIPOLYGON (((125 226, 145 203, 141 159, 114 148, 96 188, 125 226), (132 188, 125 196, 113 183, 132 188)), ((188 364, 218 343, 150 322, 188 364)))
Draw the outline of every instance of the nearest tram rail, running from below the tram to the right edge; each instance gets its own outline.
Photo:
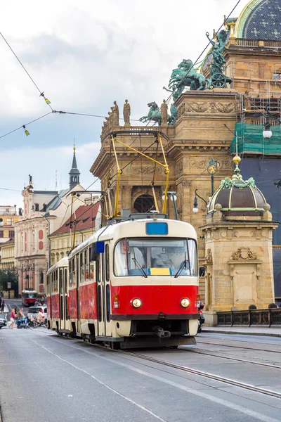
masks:
MULTIPOLYGON (((256 387, 256 385, 242 383, 240 381, 235 381, 235 380, 232 380, 230 378, 217 376, 217 375, 215 375, 213 373, 209 373, 209 372, 198 371, 197 369, 192 369, 192 368, 189 368, 188 366, 171 364, 170 362, 166 362, 166 361, 163 361, 163 360, 160 360, 160 359, 155 359, 153 357, 148 357, 148 356, 145 356, 144 354, 140 354, 140 353, 126 352, 124 350, 118 350, 118 351, 114 351, 114 352, 119 353, 119 354, 125 354, 125 355, 131 356, 131 357, 137 357, 138 359, 143 359, 143 360, 146 360, 148 362, 153 362, 155 364, 168 366, 169 368, 178 369, 178 370, 184 371, 186 373, 191 373, 192 375, 202 376, 203 378, 209 378, 209 379, 214 380, 214 381, 219 381, 221 383, 233 385, 234 387, 243 388, 244 390, 250 390, 250 391, 253 391, 253 392, 260 392, 263 395, 269 395, 271 397, 281 399, 281 393, 280 392, 267 390, 266 388, 256 387)), ((275 366, 273 366, 273 367, 275 367, 275 366)), ((280 369, 281 369, 281 367, 280 367, 280 369)))

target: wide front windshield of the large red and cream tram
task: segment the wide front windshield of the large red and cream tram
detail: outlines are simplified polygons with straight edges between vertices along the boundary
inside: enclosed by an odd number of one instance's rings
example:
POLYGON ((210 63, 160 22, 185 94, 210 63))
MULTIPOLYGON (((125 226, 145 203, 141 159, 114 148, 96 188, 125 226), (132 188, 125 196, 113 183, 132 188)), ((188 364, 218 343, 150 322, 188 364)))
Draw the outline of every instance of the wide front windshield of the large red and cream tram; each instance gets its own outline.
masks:
POLYGON ((124 238, 115 246, 115 276, 197 276, 196 242, 186 238, 124 238))

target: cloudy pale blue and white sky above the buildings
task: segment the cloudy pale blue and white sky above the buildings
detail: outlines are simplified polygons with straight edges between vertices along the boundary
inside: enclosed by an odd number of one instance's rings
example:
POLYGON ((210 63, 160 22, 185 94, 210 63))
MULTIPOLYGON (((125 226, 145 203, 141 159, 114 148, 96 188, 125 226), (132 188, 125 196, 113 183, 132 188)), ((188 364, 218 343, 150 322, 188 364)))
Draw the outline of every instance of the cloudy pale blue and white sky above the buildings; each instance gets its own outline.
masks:
MULTIPOLYGON (((241 0, 238 16, 248 0, 241 0)), ((205 32, 223 23, 237 0, 13 0, 1 11, 4 35, 54 110, 107 115, 125 98, 131 118, 162 103, 171 70, 183 58, 195 61, 207 46, 205 32)), ((45 115, 49 107, 0 37, 0 136, 45 115)), ((122 113, 121 113, 122 114, 122 113)), ((67 188, 73 139, 80 181, 100 149, 103 119, 50 114, 1 138, 0 205, 22 205, 20 191, 32 174, 37 190, 67 188), (7 189, 7 190, 4 190, 7 189)), ((138 124, 135 122, 135 124, 138 124)), ((96 184, 98 188, 98 184, 96 184)))

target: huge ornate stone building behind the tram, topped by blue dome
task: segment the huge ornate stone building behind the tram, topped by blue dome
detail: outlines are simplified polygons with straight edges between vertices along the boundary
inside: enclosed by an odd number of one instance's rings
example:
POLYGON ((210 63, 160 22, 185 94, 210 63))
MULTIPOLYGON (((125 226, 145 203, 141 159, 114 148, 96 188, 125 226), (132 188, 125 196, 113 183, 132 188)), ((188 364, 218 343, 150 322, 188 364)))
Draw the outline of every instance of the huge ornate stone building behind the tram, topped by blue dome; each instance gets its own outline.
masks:
MULTIPOLYGON (((169 165, 169 191, 176 192, 179 219, 190 222, 197 229, 200 266, 205 262, 205 241, 200 227, 204 224, 207 207, 198 199, 199 210, 196 214, 192 212, 195 191, 208 202, 212 184, 216 190, 221 179, 232 177, 236 145, 242 155, 244 177, 258 174, 256 186, 261 185, 273 219, 281 219, 281 197, 274 186, 274 179, 280 177, 281 157, 280 120, 276 120, 281 116, 281 8, 278 3, 277 0, 251 0, 238 18, 225 22, 227 37, 221 54, 226 61, 225 75, 232 80, 230 84, 222 88, 183 91, 173 104, 177 108, 174 124, 122 127, 112 107, 102 129, 100 153, 91 172, 100 178, 110 204, 114 203, 117 194, 119 166, 122 174, 117 208, 130 208, 131 212, 152 210, 155 200, 159 210, 162 208, 165 169, 149 159, 164 163, 157 142, 157 132, 161 132, 169 165), (263 13, 265 8, 272 13, 263 13), (266 122, 271 125, 271 139, 263 138, 266 122), (117 162, 109 136, 112 132, 116 139, 117 162), (148 158, 139 153, 145 153, 148 158), (260 167, 263 171, 259 171, 260 167)), ((218 41, 214 39, 214 44, 218 41)), ((202 63, 201 72, 207 78, 211 75, 213 58, 209 51, 202 63)), ((107 215, 112 214, 109 207, 107 205, 107 210, 103 210, 107 215)), ((170 200, 167 212, 169 217, 175 217, 170 200)), ((280 228, 273 232, 273 243, 277 252, 275 290, 280 286, 281 296, 280 228)), ((205 279, 200 279, 202 300, 205 299, 204 291, 205 279)))

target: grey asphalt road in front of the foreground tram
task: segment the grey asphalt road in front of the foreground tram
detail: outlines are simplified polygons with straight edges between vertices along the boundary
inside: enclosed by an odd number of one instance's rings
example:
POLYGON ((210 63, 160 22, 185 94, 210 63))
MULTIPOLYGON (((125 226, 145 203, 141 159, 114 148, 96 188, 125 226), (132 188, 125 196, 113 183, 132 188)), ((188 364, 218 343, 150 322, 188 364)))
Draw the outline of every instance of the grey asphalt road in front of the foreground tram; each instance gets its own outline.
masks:
MULTIPOLYGON (((264 377, 259 366, 250 371, 194 350, 145 353, 197 369, 207 366, 211 372, 249 371, 249 382, 259 371, 264 377)), ((280 421, 281 399, 61 338, 44 328, 2 328, 0 367, 3 422, 280 421)))

